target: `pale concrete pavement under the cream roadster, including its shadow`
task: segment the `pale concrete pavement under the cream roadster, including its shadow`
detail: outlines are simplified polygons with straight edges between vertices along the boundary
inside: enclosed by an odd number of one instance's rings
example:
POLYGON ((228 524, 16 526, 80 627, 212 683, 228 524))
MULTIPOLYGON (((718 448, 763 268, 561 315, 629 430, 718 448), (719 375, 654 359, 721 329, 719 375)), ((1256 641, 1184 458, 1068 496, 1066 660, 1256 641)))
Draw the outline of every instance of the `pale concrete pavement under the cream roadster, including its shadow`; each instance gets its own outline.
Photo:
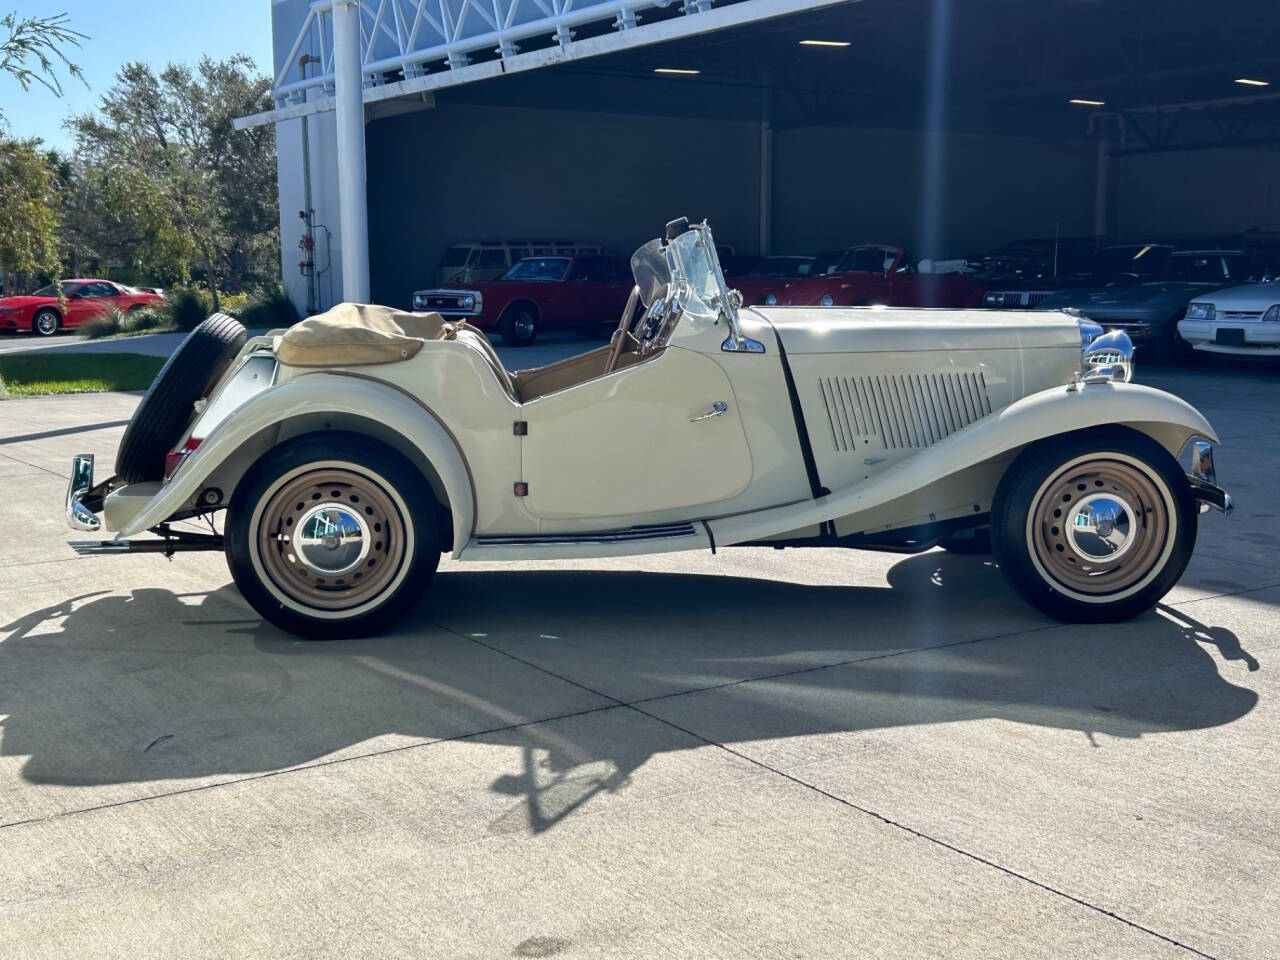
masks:
POLYGON ((0 956, 1280 955, 1280 376, 1147 380, 1239 507, 1132 623, 742 549, 445 562, 334 644, 69 556, 136 397, 0 403, 0 956))

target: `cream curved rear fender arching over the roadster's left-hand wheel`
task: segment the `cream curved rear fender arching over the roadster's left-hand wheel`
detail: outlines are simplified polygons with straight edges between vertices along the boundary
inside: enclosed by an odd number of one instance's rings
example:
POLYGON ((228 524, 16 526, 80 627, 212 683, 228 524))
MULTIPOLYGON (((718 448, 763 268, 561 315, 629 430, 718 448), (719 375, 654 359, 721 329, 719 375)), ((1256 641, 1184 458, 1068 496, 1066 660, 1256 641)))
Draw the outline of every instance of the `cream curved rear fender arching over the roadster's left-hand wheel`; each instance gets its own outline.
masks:
POLYGON ((453 436, 407 393, 342 374, 307 374, 251 398, 204 438, 118 536, 133 536, 191 508, 206 486, 225 490, 225 502, 248 467, 280 440, 310 430, 358 430, 362 424, 415 461, 435 494, 443 495, 457 556, 475 524, 475 488, 453 436))

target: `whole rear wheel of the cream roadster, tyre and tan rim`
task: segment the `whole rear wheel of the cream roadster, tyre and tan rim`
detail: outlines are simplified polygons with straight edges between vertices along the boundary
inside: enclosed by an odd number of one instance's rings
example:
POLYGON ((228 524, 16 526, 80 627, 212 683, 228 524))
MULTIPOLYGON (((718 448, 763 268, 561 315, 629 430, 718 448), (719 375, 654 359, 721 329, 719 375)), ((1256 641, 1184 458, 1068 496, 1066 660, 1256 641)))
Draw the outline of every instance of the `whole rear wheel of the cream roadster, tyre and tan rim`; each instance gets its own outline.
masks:
POLYGON ((440 559, 421 472, 358 434, 276 447, 237 485, 225 550, 253 609, 308 640, 374 634, 421 596, 440 559))

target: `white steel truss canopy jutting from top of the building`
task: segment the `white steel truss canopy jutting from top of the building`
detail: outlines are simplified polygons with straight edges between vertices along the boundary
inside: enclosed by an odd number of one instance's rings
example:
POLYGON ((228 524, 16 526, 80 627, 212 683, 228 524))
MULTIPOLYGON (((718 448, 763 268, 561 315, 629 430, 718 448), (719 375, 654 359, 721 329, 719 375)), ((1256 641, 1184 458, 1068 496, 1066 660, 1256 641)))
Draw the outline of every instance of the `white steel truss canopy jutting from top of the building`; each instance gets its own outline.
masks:
POLYGON ((279 64, 276 109, 242 116, 236 128, 335 108, 335 8, 339 17, 346 6, 358 14, 361 87, 370 104, 846 1, 739 0, 713 9, 712 0, 316 0, 279 64), (645 12, 677 1, 681 15, 644 23, 645 12), (576 40, 577 31, 591 36, 576 40), (521 52, 521 44, 538 49, 521 52), (291 79, 302 54, 319 69, 291 79))

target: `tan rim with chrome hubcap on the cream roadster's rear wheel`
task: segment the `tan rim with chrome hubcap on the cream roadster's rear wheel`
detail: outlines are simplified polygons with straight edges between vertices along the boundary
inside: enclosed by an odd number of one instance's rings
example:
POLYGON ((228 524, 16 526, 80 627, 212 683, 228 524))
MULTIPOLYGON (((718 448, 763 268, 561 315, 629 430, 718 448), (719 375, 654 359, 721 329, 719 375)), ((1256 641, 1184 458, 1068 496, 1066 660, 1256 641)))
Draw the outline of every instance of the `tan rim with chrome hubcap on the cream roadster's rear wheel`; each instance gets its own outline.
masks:
POLYGON ((340 467, 291 477, 259 511, 256 547, 275 589, 344 611, 378 598, 406 557, 404 520, 374 479, 340 467))

